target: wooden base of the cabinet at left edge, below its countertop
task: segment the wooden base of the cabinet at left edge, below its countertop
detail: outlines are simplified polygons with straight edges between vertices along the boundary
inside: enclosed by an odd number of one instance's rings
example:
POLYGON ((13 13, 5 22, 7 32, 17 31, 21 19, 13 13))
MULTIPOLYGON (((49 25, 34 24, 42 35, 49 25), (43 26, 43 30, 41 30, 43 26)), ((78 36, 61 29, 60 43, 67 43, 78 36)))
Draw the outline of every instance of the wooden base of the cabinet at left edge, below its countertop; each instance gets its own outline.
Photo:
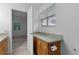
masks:
POLYGON ((0 55, 6 55, 8 53, 8 39, 5 38, 0 42, 0 55))

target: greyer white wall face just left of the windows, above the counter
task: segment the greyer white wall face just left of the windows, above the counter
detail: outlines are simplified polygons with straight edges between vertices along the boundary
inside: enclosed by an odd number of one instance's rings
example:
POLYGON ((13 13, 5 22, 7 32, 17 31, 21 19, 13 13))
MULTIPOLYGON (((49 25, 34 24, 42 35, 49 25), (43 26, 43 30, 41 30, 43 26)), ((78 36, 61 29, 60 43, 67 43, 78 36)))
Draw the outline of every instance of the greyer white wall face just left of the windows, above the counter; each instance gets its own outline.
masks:
POLYGON ((39 7, 33 6, 33 32, 38 32, 39 28, 39 7))

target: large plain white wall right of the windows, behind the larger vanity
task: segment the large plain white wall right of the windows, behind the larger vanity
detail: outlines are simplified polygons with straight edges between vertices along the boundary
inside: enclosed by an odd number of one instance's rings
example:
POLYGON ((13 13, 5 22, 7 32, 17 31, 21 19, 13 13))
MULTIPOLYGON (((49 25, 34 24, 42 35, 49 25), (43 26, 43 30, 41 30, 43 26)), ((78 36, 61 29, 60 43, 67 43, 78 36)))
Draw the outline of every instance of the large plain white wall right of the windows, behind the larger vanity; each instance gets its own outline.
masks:
POLYGON ((79 4, 56 4, 56 27, 40 27, 39 31, 63 33, 62 54, 79 54, 79 4), (74 48, 76 51, 74 51, 74 48))

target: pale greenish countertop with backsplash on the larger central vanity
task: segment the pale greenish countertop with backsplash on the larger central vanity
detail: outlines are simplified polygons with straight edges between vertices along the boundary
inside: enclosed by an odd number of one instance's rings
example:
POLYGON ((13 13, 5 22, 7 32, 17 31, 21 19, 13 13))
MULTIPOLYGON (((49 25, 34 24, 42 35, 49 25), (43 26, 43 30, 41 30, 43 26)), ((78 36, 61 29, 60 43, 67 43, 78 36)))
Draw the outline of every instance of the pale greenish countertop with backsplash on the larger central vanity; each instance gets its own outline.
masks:
POLYGON ((32 33, 33 36, 36 36, 40 38, 41 40, 44 40, 46 42, 55 42, 55 41, 62 41, 63 40, 63 35, 58 35, 58 34, 48 34, 48 33, 32 33))

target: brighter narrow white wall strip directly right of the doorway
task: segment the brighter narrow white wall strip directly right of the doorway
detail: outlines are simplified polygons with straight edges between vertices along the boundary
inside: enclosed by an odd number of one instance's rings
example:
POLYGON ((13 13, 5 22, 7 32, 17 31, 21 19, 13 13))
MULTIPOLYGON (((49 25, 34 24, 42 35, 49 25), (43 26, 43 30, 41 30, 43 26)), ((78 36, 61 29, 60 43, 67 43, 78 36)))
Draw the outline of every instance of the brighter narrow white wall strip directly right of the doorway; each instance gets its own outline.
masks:
POLYGON ((30 54, 33 54, 33 12, 32 6, 27 11, 27 49, 29 50, 30 54))

